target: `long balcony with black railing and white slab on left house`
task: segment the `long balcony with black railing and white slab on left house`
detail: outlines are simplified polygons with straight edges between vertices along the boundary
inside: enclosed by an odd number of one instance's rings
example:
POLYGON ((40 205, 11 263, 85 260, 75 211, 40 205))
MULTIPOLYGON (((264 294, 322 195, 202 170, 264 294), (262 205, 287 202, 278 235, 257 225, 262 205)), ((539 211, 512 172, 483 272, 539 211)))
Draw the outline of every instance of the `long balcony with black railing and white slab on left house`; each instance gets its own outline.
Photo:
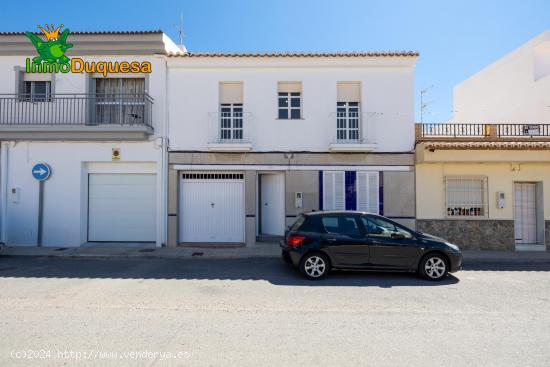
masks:
POLYGON ((0 95, 2 140, 146 140, 147 94, 0 95))

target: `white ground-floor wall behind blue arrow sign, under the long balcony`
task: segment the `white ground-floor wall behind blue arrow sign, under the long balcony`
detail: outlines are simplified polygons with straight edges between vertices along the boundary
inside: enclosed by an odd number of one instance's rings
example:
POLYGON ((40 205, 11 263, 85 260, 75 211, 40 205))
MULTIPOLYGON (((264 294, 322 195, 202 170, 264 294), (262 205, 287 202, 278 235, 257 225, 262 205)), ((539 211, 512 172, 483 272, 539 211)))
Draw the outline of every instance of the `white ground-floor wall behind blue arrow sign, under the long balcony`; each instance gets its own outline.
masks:
POLYGON ((44 189, 44 246, 78 246, 86 242, 88 173, 156 173, 156 149, 149 143, 4 143, 7 155, 6 242, 35 245, 38 229, 38 182, 32 166, 47 162, 51 177, 44 189), (112 148, 121 160, 111 161, 112 148), (11 188, 19 189, 13 203, 11 188))

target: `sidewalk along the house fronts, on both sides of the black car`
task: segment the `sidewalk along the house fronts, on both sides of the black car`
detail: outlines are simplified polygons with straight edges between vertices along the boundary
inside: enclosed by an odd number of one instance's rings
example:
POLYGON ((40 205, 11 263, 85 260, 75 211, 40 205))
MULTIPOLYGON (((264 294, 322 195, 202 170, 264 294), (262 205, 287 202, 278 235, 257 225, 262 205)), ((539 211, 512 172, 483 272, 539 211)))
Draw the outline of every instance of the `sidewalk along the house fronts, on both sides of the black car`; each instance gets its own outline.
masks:
MULTIPOLYGON (((550 252, 464 251, 464 263, 550 263, 550 252)), ((276 242, 258 242, 252 247, 204 248, 162 247, 150 244, 98 244, 82 247, 7 247, 2 255, 67 258, 254 258, 279 257, 276 242)))

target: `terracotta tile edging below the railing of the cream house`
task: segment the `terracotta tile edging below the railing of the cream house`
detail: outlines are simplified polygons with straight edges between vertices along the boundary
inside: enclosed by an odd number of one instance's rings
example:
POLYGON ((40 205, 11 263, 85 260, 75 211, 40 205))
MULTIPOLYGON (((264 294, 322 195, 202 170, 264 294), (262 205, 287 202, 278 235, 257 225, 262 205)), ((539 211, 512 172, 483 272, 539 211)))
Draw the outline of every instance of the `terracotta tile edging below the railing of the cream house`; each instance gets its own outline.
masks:
POLYGON ((425 149, 441 150, 550 150, 550 141, 425 142, 421 144, 425 149))

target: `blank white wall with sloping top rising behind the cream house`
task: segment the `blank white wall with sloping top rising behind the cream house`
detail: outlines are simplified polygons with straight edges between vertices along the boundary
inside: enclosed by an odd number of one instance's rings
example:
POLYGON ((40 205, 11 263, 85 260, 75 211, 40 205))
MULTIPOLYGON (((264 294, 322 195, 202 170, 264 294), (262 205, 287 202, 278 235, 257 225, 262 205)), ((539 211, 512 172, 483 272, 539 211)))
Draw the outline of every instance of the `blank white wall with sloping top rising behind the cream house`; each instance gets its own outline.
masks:
POLYGON ((454 123, 548 123, 550 31, 454 88, 454 123))

